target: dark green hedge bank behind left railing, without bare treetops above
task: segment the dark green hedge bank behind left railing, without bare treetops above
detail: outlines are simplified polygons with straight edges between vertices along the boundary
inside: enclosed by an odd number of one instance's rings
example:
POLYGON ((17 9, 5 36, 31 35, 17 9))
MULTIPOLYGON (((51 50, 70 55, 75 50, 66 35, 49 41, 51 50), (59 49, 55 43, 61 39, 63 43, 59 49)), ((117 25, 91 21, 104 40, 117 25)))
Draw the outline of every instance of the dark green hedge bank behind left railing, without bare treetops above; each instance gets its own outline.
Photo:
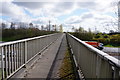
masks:
POLYGON ((56 31, 44 31, 38 28, 18 28, 18 29, 3 29, 2 41, 14 41, 46 34, 56 33, 56 31))

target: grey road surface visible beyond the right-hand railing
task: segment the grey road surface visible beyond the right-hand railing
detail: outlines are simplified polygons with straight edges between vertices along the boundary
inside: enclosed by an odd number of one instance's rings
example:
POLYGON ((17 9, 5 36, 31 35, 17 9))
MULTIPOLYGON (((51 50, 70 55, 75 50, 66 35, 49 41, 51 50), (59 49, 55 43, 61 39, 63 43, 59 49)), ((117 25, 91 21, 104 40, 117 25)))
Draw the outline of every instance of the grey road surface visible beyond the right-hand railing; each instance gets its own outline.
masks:
POLYGON ((102 51, 120 60, 120 48, 104 47, 102 51))

